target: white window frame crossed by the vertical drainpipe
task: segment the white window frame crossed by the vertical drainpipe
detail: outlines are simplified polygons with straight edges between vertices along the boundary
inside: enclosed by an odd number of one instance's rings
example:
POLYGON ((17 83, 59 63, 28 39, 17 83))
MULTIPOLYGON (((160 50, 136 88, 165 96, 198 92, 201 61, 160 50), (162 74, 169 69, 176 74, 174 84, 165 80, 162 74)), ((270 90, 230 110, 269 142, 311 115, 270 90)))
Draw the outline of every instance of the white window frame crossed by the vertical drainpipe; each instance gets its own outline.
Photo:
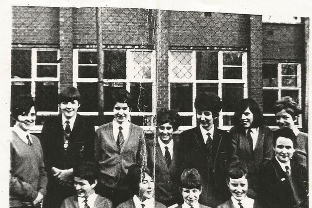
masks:
MULTIPOLYGON (((109 50, 109 49, 104 49, 109 50)), ((103 82, 123 82, 126 84, 126 90, 130 92, 131 83, 152 83, 152 112, 130 112, 132 116, 152 116, 152 125, 151 126, 141 126, 144 131, 154 131, 153 117, 156 114, 156 51, 155 50, 146 50, 146 49, 124 49, 126 50, 126 78, 125 79, 103 79, 103 82), (130 69, 134 67, 134 64, 130 62, 131 52, 151 52, 151 78, 132 78, 130 79, 130 69)), ((77 87, 78 82, 84 83, 94 83, 98 82, 98 78, 79 78, 78 77, 78 66, 87 65, 87 66, 98 66, 98 64, 78 64, 78 53, 79 52, 97 52, 97 49, 88 48, 88 49, 74 49, 73 50, 73 86, 77 87)), ((131 92, 130 92, 131 93, 131 92)), ((79 112, 81 115, 93 115, 97 116, 98 112, 79 112)), ((113 112, 104 112, 103 115, 114 115, 113 112)), ((131 116, 130 116, 131 117, 131 116)), ((97 128, 97 127, 96 127, 97 128)))

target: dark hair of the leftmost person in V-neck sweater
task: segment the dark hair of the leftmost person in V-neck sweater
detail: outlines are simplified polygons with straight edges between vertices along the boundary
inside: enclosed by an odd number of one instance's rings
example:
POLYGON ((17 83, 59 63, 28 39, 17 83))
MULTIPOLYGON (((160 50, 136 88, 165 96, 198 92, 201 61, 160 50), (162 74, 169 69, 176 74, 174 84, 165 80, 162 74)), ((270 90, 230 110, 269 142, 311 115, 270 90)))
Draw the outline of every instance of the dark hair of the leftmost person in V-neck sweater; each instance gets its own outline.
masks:
POLYGON ((11 113, 15 120, 18 120, 19 115, 28 114, 30 109, 35 106, 35 99, 31 95, 19 95, 12 102, 11 113))

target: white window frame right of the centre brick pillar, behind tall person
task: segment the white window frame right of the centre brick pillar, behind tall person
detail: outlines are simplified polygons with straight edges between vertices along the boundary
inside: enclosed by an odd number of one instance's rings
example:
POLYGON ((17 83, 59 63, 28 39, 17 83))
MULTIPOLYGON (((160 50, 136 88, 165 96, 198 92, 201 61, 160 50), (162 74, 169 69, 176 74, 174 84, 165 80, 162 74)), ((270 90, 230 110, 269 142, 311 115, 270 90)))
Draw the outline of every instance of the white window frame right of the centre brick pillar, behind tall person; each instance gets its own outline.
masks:
MULTIPOLYGON (((170 86, 171 83, 193 83, 193 97, 192 97, 192 108, 193 112, 179 112, 180 116, 192 116, 192 126, 180 126, 177 130, 178 131, 185 131, 190 128, 193 128, 196 126, 196 111, 195 111, 195 97, 196 97, 196 87, 198 83, 218 83, 218 96, 222 98, 222 84, 223 83, 242 83, 243 84, 243 98, 248 97, 248 80, 247 80, 247 68, 248 68, 248 59, 247 59, 247 52, 246 51, 218 51, 218 79, 209 80, 209 79, 199 79, 196 80, 196 51, 195 50, 169 50, 168 51, 168 74, 169 74, 169 106, 171 106, 171 91, 170 86), (172 52, 190 52, 192 53, 192 60, 191 60, 191 66, 192 66, 192 78, 188 80, 183 79, 174 79, 171 74, 171 70, 175 65, 171 65, 173 63, 173 55, 172 52), (242 54, 242 65, 223 65, 223 54, 224 53, 241 53, 242 54), (242 79, 224 79, 223 78, 223 67, 239 67, 242 68, 242 79)), ((224 115, 234 115, 234 112, 222 112, 222 110, 219 113, 219 127, 223 130, 230 130, 232 126, 223 125, 223 116, 224 115)))

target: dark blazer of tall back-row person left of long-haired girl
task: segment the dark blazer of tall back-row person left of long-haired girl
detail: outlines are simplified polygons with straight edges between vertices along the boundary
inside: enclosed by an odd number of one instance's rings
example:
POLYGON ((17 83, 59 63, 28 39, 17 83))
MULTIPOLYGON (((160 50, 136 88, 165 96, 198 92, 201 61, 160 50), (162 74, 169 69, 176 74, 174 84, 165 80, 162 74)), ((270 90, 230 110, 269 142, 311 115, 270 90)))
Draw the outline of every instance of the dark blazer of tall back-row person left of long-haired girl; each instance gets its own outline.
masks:
POLYGON ((199 127, 180 134, 178 163, 180 173, 195 168, 202 177, 202 192, 199 202, 216 207, 229 198, 226 171, 232 157, 230 134, 215 128, 213 136, 213 164, 209 164, 206 146, 199 127))

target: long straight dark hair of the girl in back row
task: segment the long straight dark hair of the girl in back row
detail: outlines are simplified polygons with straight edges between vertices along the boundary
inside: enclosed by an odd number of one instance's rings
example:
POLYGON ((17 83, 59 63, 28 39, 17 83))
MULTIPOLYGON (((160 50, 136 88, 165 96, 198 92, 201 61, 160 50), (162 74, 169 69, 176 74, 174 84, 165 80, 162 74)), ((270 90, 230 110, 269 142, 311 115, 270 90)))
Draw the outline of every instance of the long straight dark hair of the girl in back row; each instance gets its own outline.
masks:
POLYGON ((263 125, 263 114, 253 98, 245 98, 241 99, 235 108, 233 123, 234 126, 241 126, 240 118, 242 114, 246 111, 246 109, 253 113, 254 120, 251 124, 251 128, 256 128, 263 125))

